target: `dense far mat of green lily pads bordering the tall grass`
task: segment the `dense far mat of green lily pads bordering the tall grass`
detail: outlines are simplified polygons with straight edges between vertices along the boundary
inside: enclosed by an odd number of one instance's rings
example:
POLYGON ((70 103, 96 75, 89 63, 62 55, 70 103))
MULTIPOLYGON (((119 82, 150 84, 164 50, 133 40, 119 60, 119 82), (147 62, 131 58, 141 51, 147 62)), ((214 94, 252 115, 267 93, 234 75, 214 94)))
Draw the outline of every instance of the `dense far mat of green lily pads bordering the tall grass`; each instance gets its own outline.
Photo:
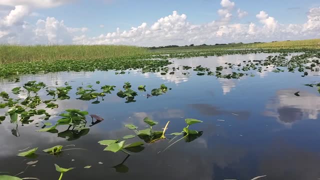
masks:
POLYGON ((141 72, 162 72, 165 74, 164 66, 170 64, 170 58, 185 58, 194 56, 221 56, 227 54, 248 54, 248 53, 291 53, 305 52, 306 55, 319 56, 318 49, 308 48, 290 48, 290 49, 216 49, 204 51, 186 51, 186 52, 165 52, 136 55, 131 57, 113 57, 113 58, 93 58, 78 60, 37 60, 26 62, 2 63, 0 64, 0 77, 11 77, 19 74, 35 74, 59 71, 94 71, 94 70, 118 70, 116 74, 125 73, 128 69, 141 69, 141 72), (141 60, 144 59, 144 60, 141 60))

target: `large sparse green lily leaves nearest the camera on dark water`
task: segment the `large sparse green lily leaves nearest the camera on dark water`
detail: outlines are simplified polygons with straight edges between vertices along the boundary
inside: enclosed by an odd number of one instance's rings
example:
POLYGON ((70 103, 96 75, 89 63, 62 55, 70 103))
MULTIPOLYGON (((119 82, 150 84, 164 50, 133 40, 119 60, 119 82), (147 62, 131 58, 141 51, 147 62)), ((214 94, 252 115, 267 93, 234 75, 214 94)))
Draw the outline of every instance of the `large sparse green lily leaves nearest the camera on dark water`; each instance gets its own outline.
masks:
MULTIPOLYGON (((66 111, 68 113, 60 114, 60 116, 62 116, 63 118, 57 120, 57 124, 68 125, 68 124, 72 123, 72 125, 73 125, 74 123, 77 123, 78 121, 80 121, 79 123, 81 123, 81 121, 83 119, 85 120, 84 116, 87 114, 87 112, 85 112, 85 111, 80 111, 80 110, 76 110, 76 109, 66 110, 66 111)), ((115 168, 117 172, 127 172, 128 168, 124 165, 125 160, 130 155, 132 155, 132 153, 141 152, 145 148, 143 146, 144 142, 146 142, 148 144, 152 144, 158 140, 167 140, 168 146, 162 150, 162 151, 165 151, 167 148, 169 148, 170 146, 172 146, 173 144, 175 144, 176 142, 178 142, 179 140, 181 140, 183 138, 185 139, 185 142, 190 142, 190 141, 192 141, 202 135, 202 131, 191 130, 189 128, 189 126, 192 124, 202 122, 201 120, 198 120, 198 119, 193 119, 193 118, 185 119, 186 126, 183 127, 180 132, 172 132, 169 134, 165 133, 165 132, 167 132, 168 124, 170 121, 167 121, 167 123, 165 124, 165 126, 162 130, 154 130, 154 128, 152 128, 152 127, 154 125, 158 124, 158 122, 153 121, 149 117, 145 117, 143 119, 143 121, 149 125, 149 128, 138 130, 138 127, 133 124, 125 124, 124 126, 127 127, 128 129, 132 130, 134 134, 128 134, 128 135, 125 135, 125 136, 118 138, 118 139, 107 139, 107 140, 98 141, 99 144, 105 146, 105 148, 103 149, 105 151, 111 151, 111 152, 122 151, 125 154, 127 154, 125 159, 120 164, 113 166, 113 168, 115 168), (178 135, 183 135, 183 136, 180 139, 172 142, 172 140, 178 135), (174 136, 174 137, 168 138, 166 136, 174 136), (142 139, 144 142, 134 141, 131 143, 127 143, 127 139, 132 139, 134 137, 138 137, 138 138, 142 139)), ((56 156, 65 150, 74 150, 74 149, 81 149, 81 148, 64 148, 62 145, 55 145, 55 146, 43 149, 42 151, 47 154, 56 156)), ((38 150, 38 147, 35 147, 35 148, 29 149, 29 150, 19 152, 16 155, 21 156, 21 157, 36 158, 38 155, 37 150, 38 150)), ((88 150, 88 149, 82 149, 82 150, 88 150)), ((38 160, 27 162, 26 163, 27 167, 29 165, 35 166, 34 164, 37 163, 37 161, 38 160)), ((66 173, 67 171, 72 170, 74 168, 74 167, 63 168, 57 164, 54 164, 54 166, 55 166, 55 170, 60 172, 60 176, 58 177, 58 180, 62 179, 64 173, 66 173)), ((90 167, 91 167, 91 165, 87 165, 87 166, 84 166, 83 168, 90 168, 90 167)), ((25 168, 25 170, 26 170, 26 168, 25 168)), ((19 175, 23 172, 24 171, 22 171, 16 175, 19 175)), ((33 177, 19 178, 16 175, 15 176, 0 175, 0 178, 5 178, 5 179, 9 179, 9 180, 27 179, 27 178, 37 179, 37 178, 33 178, 33 177)))

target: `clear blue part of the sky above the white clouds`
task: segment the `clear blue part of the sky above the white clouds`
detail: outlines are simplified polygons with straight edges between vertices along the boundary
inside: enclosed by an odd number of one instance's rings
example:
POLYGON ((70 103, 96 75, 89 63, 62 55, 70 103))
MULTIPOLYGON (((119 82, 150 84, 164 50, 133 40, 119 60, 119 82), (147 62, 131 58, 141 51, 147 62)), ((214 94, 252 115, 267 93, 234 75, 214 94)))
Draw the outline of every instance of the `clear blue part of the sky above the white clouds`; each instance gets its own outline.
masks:
MULTIPOLYGON (((319 0, 234 0, 236 7, 248 12, 237 22, 256 22, 255 14, 266 11, 281 23, 302 23, 310 7, 320 6, 319 0), (253 15, 253 16, 252 16, 253 15)), ((218 18, 219 0, 80 0, 58 7, 36 10, 43 16, 63 19, 68 26, 90 27, 89 35, 113 32, 116 27, 129 29, 142 22, 153 23, 173 10, 187 15, 198 24, 218 18), (99 25, 104 24, 104 28, 99 25)), ((31 18, 32 19, 32 18, 31 18)), ((37 17, 33 17, 33 20, 37 17)))

